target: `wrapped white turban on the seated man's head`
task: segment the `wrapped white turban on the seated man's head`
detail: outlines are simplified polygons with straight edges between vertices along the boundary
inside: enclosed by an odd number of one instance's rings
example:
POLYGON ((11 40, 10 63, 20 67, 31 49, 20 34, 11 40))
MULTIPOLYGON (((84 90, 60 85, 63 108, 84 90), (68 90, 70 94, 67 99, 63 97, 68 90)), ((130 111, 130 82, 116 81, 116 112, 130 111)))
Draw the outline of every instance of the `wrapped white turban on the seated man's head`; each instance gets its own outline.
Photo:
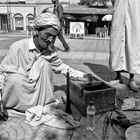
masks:
POLYGON ((56 15, 50 12, 41 13, 34 19, 35 28, 53 27, 58 32, 60 30, 60 21, 56 15))

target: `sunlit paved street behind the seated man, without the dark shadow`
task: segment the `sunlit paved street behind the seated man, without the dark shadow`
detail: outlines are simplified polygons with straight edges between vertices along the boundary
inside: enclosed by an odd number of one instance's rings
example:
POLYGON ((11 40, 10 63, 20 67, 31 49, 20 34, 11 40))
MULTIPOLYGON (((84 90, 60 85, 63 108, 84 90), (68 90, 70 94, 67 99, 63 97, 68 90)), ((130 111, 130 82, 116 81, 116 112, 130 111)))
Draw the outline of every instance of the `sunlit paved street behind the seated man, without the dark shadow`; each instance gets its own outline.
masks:
MULTIPOLYGON (((14 32, 10 34, 0 34, 0 62, 13 42, 27 37, 29 36, 27 36, 26 33, 14 32)), ((65 63, 85 72, 92 71, 88 65, 93 63, 108 66, 109 39, 99 39, 88 36, 84 39, 69 39, 66 37, 66 40, 70 45, 70 52, 63 52, 64 48, 59 40, 56 40, 55 44, 60 58, 62 58, 65 63)))

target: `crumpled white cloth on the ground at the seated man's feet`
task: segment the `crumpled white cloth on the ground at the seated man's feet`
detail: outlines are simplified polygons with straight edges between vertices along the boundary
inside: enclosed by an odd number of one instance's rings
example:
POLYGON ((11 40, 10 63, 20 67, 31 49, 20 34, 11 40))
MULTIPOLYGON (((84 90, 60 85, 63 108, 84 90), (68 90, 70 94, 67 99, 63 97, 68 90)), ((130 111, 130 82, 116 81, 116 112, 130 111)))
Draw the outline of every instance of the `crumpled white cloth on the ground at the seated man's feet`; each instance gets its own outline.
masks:
POLYGON ((70 115, 57 108, 59 101, 45 106, 34 106, 26 111, 25 122, 32 125, 38 126, 45 124, 55 128, 61 129, 73 129, 80 126, 78 121, 70 115))

